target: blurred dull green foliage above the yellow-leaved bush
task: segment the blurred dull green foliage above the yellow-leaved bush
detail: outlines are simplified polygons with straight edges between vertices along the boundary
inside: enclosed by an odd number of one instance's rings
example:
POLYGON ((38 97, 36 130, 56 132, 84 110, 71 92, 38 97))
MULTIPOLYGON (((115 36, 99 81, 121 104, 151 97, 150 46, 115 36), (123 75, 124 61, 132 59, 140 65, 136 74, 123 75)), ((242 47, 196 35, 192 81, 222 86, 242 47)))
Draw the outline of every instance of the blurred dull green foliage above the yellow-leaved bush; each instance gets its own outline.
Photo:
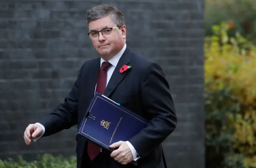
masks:
POLYGON ((229 36, 239 31, 246 39, 256 42, 255 0, 206 0, 204 18, 206 36, 212 35, 212 25, 228 21, 229 36))

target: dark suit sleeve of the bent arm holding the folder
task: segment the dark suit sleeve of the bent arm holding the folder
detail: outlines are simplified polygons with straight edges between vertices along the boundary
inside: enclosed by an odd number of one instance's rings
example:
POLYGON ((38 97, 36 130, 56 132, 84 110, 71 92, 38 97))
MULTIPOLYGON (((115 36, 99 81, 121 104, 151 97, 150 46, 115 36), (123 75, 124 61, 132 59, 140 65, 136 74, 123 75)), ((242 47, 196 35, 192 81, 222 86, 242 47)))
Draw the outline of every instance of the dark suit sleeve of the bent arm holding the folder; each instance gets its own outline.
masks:
POLYGON ((140 158, 143 158, 176 128, 177 118, 169 84, 162 68, 152 63, 143 76, 141 97, 145 113, 150 116, 148 127, 142 129, 129 142, 134 146, 140 158))

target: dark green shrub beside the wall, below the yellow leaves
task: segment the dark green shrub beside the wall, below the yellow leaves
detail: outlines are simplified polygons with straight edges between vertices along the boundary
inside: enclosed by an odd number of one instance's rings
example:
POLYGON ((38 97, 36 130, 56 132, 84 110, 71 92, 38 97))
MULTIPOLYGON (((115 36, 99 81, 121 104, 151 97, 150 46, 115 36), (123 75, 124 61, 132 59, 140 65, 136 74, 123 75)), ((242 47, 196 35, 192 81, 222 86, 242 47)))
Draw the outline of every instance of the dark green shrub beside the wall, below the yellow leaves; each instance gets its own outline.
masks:
POLYGON ((239 100, 228 86, 215 91, 208 87, 205 90, 206 168, 244 168, 244 157, 237 155, 233 148, 235 121, 230 119, 240 111, 239 100))

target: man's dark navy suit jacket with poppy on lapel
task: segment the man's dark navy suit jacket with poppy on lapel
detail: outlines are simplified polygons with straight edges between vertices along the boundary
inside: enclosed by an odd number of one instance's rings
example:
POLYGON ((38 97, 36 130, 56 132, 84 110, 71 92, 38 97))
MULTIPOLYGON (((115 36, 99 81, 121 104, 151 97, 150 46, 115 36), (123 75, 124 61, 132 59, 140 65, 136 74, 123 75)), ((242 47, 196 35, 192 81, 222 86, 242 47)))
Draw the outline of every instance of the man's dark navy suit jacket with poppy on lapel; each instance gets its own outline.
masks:
MULTIPOLYGON (((76 124, 79 126, 94 96, 99 69, 100 57, 86 61, 82 65, 77 80, 64 102, 40 121, 45 127, 43 136, 69 129, 76 124)), ((164 168, 161 143, 174 131, 177 119, 169 85, 162 68, 127 47, 110 78, 104 95, 149 121, 148 127, 129 140, 140 156, 136 167, 164 168), (120 73, 119 69, 123 64, 132 67, 120 73)), ((81 162, 85 162, 83 156, 87 155, 87 141, 82 136, 77 136, 76 141, 78 168, 80 168, 81 162)), ((123 167, 115 160, 111 162, 115 164, 111 166, 113 168, 123 167)), ((127 164, 124 167, 134 166, 127 164)))

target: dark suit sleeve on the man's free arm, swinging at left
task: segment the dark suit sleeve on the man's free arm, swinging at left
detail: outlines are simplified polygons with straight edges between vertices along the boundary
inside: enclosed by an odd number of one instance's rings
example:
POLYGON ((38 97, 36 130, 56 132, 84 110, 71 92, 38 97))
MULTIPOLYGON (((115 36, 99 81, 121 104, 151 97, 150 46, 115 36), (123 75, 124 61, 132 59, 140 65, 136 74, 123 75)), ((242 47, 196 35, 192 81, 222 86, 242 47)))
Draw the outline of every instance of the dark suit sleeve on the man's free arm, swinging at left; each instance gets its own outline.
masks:
POLYGON ((69 129, 77 123, 77 106, 78 106, 78 86, 84 64, 78 71, 78 76, 70 92, 64 98, 64 102, 59 104, 51 113, 46 115, 38 123, 44 125, 45 132, 42 137, 58 133, 63 129, 69 129))

